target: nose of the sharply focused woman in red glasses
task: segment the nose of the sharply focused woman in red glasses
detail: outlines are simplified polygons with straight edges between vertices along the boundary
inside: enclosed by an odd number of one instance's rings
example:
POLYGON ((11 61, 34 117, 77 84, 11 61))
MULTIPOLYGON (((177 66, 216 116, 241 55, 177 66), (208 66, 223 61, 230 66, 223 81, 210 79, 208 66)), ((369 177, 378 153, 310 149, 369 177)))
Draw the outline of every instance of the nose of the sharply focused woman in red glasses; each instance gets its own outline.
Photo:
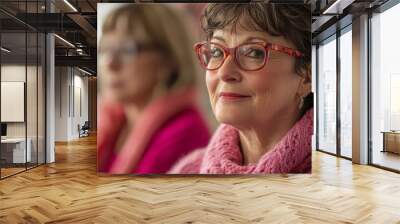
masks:
POLYGON ((217 70, 218 78, 224 82, 240 82, 242 75, 239 67, 237 66, 235 59, 232 55, 229 55, 221 67, 217 70))

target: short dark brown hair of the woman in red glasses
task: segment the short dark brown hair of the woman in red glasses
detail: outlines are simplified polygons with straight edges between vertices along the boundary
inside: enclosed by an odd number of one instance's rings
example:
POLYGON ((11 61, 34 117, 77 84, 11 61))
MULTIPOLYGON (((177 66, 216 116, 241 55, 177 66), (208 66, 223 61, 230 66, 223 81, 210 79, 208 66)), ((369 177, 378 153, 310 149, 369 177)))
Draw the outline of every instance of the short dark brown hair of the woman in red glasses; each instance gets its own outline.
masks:
POLYGON ((308 4, 209 4, 202 16, 207 39, 215 30, 227 26, 283 36, 305 55, 296 60, 295 71, 302 74, 311 68, 311 10, 308 4), (246 24, 240 24, 241 18, 246 19, 246 24))

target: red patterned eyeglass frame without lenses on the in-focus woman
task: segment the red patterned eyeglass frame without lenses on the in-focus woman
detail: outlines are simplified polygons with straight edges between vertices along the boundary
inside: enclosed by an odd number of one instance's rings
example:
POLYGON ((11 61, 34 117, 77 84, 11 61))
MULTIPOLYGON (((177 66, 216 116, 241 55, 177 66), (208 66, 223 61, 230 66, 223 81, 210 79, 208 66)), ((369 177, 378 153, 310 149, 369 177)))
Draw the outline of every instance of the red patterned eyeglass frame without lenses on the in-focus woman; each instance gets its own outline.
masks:
POLYGON ((200 61, 200 65, 204 69, 206 69, 208 71, 214 71, 214 70, 218 70, 219 68, 221 68, 221 66, 225 63, 225 60, 228 58, 229 55, 234 55, 234 60, 235 60, 236 65, 240 69, 242 69, 244 71, 259 71, 259 70, 263 69, 265 64, 267 63, 270 50, 282 52, 282 53, 285 53, 285 54, 287 54, 289 56, 296 57, 296 58, 304 57, 304 54, 299 50, 295 50, 295 49, 292 49, 292 48, 289 48, 289 47, 285 47, 285 46, 282 46, 282 45, 279 45, 279 44, 262 43, 262 42, 247 42, 247 43, 239 44, 236 47, 230 48, 230 47, 224 47, 222 44, 219 44, 219 43, 203 41, 203 42, 198 42, 198 43, 194 44, 193 48, 194 48, 194 50, 196 52, 197 58, 200 61), (217 68, 209 69, 209 68, 207 68, 207 65, 203 63, 203 60, 201 59, 201 55, 200 55, 200 48, 202 46, 204 46, 205 44, 215 44, 215 45, 219 46, 224 51, 224 59, 222 60, 221 64, 217 68), (238 58, 236 56, 237 49, 240 48, 243 45, 249 45, 249 44, 260 45, 265 50, 266 56, 264 57, 263 64, 260 66, 260 68, 257 68, 257 69, 244 69, 240 65, 240 63, 238 61, 238 58))

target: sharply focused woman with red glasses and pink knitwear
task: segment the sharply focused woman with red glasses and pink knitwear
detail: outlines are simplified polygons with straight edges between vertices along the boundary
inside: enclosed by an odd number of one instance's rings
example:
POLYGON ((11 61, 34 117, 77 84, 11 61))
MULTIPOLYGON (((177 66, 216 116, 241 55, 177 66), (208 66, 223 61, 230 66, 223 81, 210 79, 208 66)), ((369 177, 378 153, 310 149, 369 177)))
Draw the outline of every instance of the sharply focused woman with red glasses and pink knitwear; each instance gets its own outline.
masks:
POLYGON ((194 49, 221 123, 169 173, 311 171, 311 13, 307 5, 210 4, 194 49))

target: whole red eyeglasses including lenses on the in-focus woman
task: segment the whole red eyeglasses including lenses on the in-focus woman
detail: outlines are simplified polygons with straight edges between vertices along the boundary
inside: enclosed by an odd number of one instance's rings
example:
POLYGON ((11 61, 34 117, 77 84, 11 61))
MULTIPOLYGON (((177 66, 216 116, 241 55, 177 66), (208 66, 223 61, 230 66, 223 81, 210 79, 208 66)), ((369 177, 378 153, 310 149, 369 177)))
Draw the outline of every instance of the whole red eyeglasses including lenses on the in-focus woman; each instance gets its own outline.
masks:
POLYGON ((213 42, 201 42, 194 45, 201 66, 207 70, 219 69, 229 55, 234 55, 240 69, 257 71, 267 63, 270 50, 279 51, 292 57, 303 57, 298 50, 271 43, 244 43, 234 48, 224 47, 213 42))

